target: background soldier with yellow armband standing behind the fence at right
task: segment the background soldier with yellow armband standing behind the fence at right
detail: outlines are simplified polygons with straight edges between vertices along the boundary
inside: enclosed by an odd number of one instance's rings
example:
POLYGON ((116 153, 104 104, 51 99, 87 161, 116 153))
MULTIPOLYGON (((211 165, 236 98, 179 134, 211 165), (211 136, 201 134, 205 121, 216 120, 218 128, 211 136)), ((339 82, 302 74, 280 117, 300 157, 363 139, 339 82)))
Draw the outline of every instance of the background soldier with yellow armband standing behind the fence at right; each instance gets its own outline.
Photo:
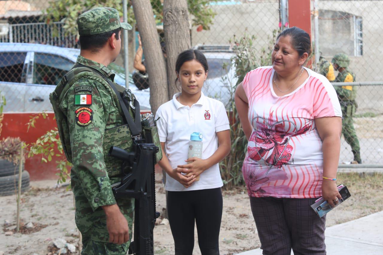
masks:
MULTIPOLYGON (((354 82, 355 75, 347 69, 350 64, 350 59, 346 54, 339 53, 336 54, 331 62, 334 65, 334 68, 339 71, 335 82, 354 82)), ((354 161, 357 163, 362 163, 360 159, 360 146, 357 134, 354 128, 354 121, 352 116, 355 114, 356 110, 356 91, 353 86, 335 86, 337 92, 340 107, 342 108, 342 133, 344 139, 351 146, 352 153, 354 154, 354 161)))

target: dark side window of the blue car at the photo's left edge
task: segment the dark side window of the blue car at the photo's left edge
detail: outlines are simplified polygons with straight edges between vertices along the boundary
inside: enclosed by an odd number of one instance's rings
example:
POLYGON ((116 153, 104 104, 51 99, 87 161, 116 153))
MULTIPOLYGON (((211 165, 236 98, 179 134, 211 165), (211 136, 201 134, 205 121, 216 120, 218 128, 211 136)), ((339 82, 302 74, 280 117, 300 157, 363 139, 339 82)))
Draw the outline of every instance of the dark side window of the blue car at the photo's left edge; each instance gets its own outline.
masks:
POLYGON ((0 81, 25 82, 23 66, 26 52, 0 52, 0 81))

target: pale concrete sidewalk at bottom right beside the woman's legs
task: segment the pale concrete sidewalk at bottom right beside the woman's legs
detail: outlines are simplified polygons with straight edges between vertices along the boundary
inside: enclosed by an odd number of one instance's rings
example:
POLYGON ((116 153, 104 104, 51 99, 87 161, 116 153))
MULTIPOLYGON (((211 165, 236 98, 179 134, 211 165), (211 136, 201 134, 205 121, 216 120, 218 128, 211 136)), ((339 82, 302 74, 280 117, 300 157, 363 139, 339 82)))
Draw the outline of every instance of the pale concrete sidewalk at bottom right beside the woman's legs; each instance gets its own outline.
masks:
MULTIPOLYGON (((383 211, 331 226, 326 229, 326 246, 329 255, 382 255, 383 211)), ((261 255, 261 249, 238 253, 261 255)), ((291 252, 291 255, 294 253, 291 252)))

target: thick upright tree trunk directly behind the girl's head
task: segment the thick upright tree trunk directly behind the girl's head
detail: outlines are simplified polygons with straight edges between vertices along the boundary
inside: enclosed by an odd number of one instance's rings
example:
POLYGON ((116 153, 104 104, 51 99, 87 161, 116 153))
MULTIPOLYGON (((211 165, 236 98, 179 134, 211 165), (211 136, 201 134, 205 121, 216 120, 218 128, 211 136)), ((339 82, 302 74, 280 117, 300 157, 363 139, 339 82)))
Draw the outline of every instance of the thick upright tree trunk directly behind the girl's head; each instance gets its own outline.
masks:
POLYGON ((175 62, 178 54, 190 49, 190 27, 187 0, 164 0, 164 33, 167 53, 167 77, 169 100, 173 94, 180 92, 175 73, 175 62))

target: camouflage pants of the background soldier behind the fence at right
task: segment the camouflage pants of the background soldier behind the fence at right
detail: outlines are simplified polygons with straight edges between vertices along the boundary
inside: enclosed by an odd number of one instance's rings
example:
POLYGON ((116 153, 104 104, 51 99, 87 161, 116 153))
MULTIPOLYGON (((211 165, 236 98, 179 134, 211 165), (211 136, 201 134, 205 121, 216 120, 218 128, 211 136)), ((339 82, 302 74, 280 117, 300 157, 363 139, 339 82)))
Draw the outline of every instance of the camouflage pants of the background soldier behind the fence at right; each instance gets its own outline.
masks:
POLYGON ((355 104, 352 101, 340 105, 342 109, 342 134, 346 142, 351 146, 351 151, 354 154, 354 160, 361 163, 359 139, 355 132, 354 121, 352 115, 355 113, 355 104))

